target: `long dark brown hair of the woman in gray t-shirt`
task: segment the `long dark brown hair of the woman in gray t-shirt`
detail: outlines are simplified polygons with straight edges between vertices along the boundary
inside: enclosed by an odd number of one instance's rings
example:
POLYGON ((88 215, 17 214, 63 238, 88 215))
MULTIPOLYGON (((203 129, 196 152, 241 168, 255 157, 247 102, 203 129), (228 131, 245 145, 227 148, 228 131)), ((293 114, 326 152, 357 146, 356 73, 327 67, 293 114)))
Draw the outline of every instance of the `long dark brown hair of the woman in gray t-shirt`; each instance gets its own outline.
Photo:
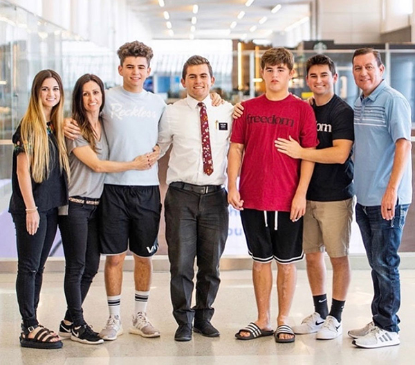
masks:
POLYGON ((80 129, 81 134, 88 141, 89 145, 91 145, 91 148, 93 151, 97 152, 96 150, 96 138, 95 132, 93 131, 93 128, 91 126, 91 123, 89 123, 88 117, 86 116, 86 110, 84 107, 84 100, 82 98, 82 89, 84 87, 84 84, 86 82, 93 81, 98 84, 101 90, 102 94, 102 104, 100 107, 100 113, 102 112, 102 109, 104 109, 105 105, 105 89, 104 89, 104 82, 100 78, 98 78, 97 75, 92 75, 91 73, 85 73, 85 75, 82 75, 80 78, 77 79, 77 82, 75 83, 75 87, 73 88, 72 93, 72 118, 77 121, 80 129))

